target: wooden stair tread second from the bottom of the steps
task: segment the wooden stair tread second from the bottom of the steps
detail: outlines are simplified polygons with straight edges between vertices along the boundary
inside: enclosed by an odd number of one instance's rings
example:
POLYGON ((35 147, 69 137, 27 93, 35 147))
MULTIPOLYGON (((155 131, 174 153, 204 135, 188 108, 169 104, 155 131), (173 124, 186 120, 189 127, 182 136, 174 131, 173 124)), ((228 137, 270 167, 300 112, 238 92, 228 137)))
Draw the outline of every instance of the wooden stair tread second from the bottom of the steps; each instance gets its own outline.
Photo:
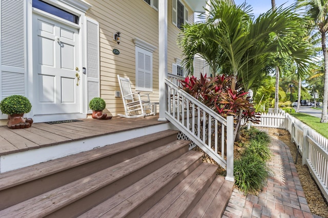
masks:
POLYGON ((207 168, 199 177, 194 178, 191 173, 142 217, 186 216, 215 178, 217 165, 210 163, 202 163, 202 165, 207 168))

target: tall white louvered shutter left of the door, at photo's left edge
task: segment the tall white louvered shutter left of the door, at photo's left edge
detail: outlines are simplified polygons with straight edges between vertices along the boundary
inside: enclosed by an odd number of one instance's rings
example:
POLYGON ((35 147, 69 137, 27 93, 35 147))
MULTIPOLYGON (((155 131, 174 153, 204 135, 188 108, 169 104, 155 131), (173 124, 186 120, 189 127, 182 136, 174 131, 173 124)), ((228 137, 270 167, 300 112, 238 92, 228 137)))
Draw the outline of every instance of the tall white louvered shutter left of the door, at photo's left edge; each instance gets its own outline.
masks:
MULTIPOLYGON (((25 0, 1 1, 0 101, 10 95, 25 96, 25 0)), ((0 119, 6 115, 0 113, 0 119)))

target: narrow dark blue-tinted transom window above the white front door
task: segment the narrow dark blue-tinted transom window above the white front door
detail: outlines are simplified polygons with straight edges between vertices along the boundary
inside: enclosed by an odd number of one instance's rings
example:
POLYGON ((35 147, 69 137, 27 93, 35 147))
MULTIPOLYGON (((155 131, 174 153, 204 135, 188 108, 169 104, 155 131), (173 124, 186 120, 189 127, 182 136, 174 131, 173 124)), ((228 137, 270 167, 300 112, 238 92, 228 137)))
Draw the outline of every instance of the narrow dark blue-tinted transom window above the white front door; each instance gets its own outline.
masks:
POLYGON ((57 17, 71 21, 74 24, 78 24, 78 16, 72 14, 63 9, 57 8, 56 6, 50 5, 40 0, 33 0, 32 7, 45 11, 47 13, 53 14, 57 17))

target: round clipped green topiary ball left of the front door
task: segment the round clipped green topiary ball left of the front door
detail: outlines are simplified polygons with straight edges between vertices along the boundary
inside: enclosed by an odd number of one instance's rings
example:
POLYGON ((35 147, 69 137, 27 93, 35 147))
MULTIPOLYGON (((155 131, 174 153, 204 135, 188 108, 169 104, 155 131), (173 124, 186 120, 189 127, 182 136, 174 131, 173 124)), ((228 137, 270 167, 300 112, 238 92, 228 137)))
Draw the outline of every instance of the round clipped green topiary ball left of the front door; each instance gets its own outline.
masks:
POLYGON ((0 102, 0 110, 3 114, 25 114, 29 113, 31 108, 29 99, 22 95, 11 95, 0 102))

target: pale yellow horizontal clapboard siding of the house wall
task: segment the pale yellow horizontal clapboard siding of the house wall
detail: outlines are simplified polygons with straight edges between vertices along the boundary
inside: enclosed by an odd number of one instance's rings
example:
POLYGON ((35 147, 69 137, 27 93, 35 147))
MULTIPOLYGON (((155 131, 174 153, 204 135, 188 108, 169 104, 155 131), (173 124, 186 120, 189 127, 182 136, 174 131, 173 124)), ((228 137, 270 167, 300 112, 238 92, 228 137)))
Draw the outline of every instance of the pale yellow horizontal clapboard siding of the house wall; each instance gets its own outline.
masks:
MULTIPOLYGON (((134 38, 144 40, 157 49, 153 52, 153 92, 151 100, 158 102, 158 11, 143 0, 103 1, 88 0, 92 5, 86 16, 99 22, 100 28, 100 95, 107 103, 107 110, 116 116, 124 113, 121 98, 115 98, 119 90, 117 74, 127 76, 135 89, 135 45, 134 38), (119 45, 113 40, 113 33, 121 32, 119 45), (114 55, 113 49, 120 54, 114 55)), ((185 4, 187 6, 187 4, 185 4)), ((187 6, 188 7, 188 6, 187 6)), ((190 8, 190 22, 193 13, 190 8)), ((180 32, 172 24, 172 0, 168 1, 168 71, 172 72, 172 62, 181 58, 176 44, 180 32)), ((181 58, 182 59, 182 58, 181 58)))

